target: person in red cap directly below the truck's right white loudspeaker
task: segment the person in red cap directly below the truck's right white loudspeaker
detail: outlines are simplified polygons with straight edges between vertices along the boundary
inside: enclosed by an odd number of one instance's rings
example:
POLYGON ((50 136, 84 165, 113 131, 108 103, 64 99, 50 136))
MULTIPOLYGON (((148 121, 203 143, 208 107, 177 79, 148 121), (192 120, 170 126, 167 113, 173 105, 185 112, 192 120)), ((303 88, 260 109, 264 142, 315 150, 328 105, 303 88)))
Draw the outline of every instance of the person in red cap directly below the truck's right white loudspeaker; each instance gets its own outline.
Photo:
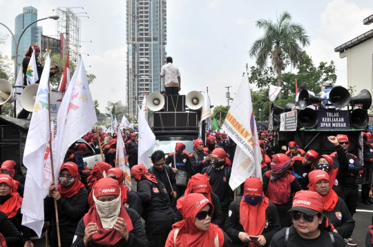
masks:
POLYGON ((189 159, 191 161, 191 167, 193 170, 193 175, 202 172, 202 169, 209 166, 210 155, 207 155, 203 151, 203 141, 201 139, 195 139, 193 142, 193 152, 189 154, 189 159))

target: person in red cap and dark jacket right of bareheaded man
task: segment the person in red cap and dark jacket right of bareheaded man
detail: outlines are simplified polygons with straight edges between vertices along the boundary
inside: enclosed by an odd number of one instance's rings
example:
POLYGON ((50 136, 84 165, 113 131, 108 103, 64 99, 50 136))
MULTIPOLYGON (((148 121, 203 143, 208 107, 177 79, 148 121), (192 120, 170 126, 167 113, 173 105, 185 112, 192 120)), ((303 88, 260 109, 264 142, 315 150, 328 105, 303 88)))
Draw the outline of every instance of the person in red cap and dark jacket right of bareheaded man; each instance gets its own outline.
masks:
MULTIPOLYGON (((169 156, 166 159, 166 166, 170 166, 175 173, 175 176, 178 176, 178 172, 187 173, 187 179, 191 178, 192 170, 191 170, 191 161, 189 160, 189 152, 185 152, 185 145, 182 142, 176 143, 175 152, 170 152, 169 156)), ((178 179, 176 179, 178 181, 178 179)), ((185 189, 187 188, 187 184, 180 185, 176 184, 176 197, 173 200, 173 208, 176 206, 176 200, 180 198, 181 195, 184 195, 185 189)))

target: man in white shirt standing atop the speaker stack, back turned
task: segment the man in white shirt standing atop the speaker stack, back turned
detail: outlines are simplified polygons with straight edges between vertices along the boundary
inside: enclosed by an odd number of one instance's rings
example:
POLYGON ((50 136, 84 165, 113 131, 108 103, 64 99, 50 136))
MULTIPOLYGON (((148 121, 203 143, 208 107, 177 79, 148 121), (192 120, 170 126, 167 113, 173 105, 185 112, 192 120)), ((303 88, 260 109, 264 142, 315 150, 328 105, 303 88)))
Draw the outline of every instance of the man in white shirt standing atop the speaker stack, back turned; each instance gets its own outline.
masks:
POLYGON ((166 95, 178 95, 181 90, 181 75, 179 68, 173 65, 172 57, 166 58, 167 64, 162 66, 160 77, 166 77, 164 88, 166 95))

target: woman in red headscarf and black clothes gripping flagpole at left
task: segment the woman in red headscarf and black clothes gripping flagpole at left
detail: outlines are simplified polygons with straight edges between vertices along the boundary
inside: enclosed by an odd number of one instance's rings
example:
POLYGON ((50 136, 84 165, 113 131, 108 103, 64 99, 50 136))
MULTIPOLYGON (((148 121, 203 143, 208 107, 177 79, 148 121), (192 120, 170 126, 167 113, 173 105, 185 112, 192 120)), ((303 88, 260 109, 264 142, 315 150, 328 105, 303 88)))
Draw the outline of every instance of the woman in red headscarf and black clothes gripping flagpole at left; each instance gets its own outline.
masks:
POLYGON ((57 246, 57 225, 55 216, 55 201, 57 201, 59 233, 61 246, 71 246, 75 229, 79 220, 86 212, 88 192, 84 184, 79 180, 77 165, 66 162, 59 170, 59 185, 54 183, 49 188, 49 194, 44 199, 45 227, 52 224, 50 233, 50 246, 57 246))

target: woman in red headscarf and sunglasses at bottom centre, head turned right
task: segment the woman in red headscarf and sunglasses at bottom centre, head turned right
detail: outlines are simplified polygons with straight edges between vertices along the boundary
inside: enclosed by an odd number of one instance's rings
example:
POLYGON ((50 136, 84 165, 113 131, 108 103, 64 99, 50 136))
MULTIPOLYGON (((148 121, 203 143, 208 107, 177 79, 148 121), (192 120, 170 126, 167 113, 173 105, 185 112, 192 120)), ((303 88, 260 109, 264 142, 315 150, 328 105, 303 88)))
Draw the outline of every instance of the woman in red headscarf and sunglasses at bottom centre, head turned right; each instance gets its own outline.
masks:
POLYGON ((178 199, 176 206, 184 218, 173 224, 165 247, 231 246, 229 237, 211 223, 213 205, 200 193, 178 199))

